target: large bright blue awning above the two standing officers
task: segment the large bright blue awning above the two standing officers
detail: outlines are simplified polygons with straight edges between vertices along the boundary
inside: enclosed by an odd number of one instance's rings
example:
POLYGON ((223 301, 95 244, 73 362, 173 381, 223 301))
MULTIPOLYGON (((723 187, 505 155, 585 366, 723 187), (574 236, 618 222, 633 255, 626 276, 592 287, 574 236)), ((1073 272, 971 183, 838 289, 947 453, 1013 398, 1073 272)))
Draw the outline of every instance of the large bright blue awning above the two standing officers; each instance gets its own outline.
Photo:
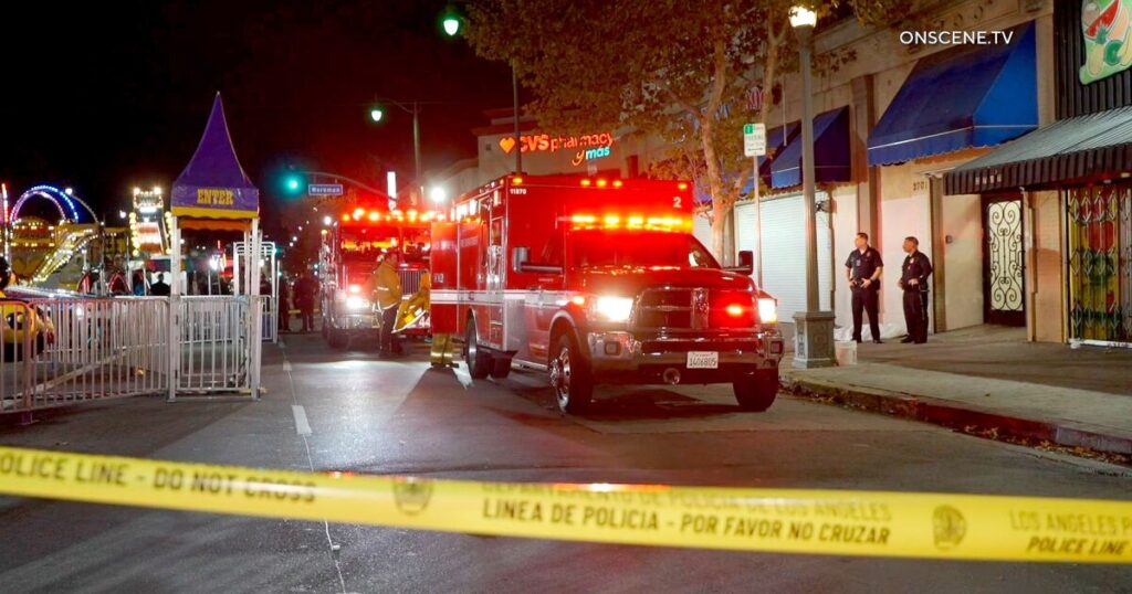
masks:
POLYGON ((1010 44, 962 45, 920 60, 868 135, 868 164, 1002 144, 1038 127, 1031 24, 1010 44))

